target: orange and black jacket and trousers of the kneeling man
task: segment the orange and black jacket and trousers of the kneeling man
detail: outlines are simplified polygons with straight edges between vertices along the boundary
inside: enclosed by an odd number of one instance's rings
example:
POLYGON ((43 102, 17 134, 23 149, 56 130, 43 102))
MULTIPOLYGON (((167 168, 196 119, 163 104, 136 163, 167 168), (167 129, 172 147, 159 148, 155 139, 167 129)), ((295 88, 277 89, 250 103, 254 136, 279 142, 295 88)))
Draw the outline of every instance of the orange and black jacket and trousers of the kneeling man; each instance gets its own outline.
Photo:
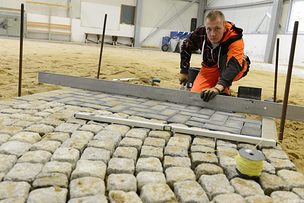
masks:
POLYGON ((181 49, 180 73, 188 73, 191 54, 202 51, 202 67, 191 91, 202 92, 220 84, 224 92, 230 95, 229 87, 233 81, 245 76, 250 60, 244 55, 244 41, 241 28, 231 22, 225 22, 226 31, 218 46, 212 46, 207 38, 205 27, 199 27, 187 38, 181 49))

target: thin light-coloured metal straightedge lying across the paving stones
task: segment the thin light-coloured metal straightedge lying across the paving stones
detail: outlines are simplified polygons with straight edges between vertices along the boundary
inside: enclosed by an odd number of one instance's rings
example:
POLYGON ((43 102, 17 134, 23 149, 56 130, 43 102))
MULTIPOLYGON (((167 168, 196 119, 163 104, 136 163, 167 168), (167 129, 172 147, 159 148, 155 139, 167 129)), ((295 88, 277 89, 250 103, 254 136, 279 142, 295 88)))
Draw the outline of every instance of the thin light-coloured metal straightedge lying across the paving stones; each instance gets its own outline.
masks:
POLYGON ((76 113, 74 117, 84 120, 93 120, 98 122, 128 125, 131 127, 142 127, 153 130, 165 130, 165 131, 171 131, 173 133, 183 133, 194 136, 211 137, 211 138, 218 138, 218 139, 230 140, 236 142, 245 142, 263 147, 274 147, 277 144, 277 142, 274 139, 269 139, 269 138, 251 137, 246 135, 238 135, 238 134, 232 134, 232 133, 220 132, 220 131, 210 131, 207 129, 199 129, 199 128, 180 127, 170 124, 155 123, 151 121, 138 121, 132 119, 125 119, 125 118, 109 117, 103 115, 95 115, 93 113, 79 112, 76 113))

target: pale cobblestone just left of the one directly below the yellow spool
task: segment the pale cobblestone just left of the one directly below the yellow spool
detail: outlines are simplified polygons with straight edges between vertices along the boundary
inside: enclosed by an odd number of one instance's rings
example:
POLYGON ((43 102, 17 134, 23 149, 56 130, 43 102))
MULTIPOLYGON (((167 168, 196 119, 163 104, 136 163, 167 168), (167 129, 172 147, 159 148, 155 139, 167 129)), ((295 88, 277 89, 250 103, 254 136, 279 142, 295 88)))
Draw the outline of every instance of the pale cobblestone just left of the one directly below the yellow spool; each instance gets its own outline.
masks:
POLYGON ((209 199, 213 199, 220 194, 234 192, 233 187, 224 174, 202 175, 199 179, 199 183, 206 191, 209 199))

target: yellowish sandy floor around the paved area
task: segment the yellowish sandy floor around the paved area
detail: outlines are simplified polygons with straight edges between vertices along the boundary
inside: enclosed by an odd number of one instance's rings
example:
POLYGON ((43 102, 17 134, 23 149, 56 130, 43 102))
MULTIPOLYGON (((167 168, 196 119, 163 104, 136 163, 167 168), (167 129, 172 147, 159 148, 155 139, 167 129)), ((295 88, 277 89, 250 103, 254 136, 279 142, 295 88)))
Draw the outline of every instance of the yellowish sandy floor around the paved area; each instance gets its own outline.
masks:
MULTIPOLYGON (((0 38, 0 45, 0 99, 3 100, 17 96, 19 41, 0 38)), ((78 45, 25 40, 22 95, 60 88, 38 84, 39 71, 96 77, 99 49, 99 46, 93 44, 78 45)), ((199 64, 200 55, 193 55, 192 66, 199 67, 199 64)), ((237 86, 240 85, 262 87, 263 99, 271 98, 274 74, 259 70, 261 68, 259 66, 262 64, 253 62, 248 76, 234 83, 232 90, 236 92, 237 86)), ((106 46, 100 78, 158 77, 161 79, 159 86, 179 88, 178 67, 179 54, 177 53, 106 46)), ((283 98, 285 80, 284 75, 278 78, 278 99, 283 98)), ((293 77, 289 103, 304 106, 304 94, 301 93, 303 88, 303 78, 293 77)), ((297 168, 304 173, 304 123, 287 121, 284 136, 283 148, 297 168)))

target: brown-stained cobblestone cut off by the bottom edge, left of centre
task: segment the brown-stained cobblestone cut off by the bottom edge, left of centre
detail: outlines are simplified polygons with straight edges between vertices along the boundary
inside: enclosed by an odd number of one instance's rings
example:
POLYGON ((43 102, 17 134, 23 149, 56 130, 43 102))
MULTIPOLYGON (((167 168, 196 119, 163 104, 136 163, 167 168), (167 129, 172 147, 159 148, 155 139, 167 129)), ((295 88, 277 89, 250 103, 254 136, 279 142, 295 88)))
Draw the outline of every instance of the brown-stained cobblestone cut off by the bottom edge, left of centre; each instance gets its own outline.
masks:
POLYGON ((132 202, 132 203, 142 203, 141 199, 138 197, 136 192, 124 192, 120 190, 112 190, 109 193, 109 200, 111 203, 118 202, 132 202))

